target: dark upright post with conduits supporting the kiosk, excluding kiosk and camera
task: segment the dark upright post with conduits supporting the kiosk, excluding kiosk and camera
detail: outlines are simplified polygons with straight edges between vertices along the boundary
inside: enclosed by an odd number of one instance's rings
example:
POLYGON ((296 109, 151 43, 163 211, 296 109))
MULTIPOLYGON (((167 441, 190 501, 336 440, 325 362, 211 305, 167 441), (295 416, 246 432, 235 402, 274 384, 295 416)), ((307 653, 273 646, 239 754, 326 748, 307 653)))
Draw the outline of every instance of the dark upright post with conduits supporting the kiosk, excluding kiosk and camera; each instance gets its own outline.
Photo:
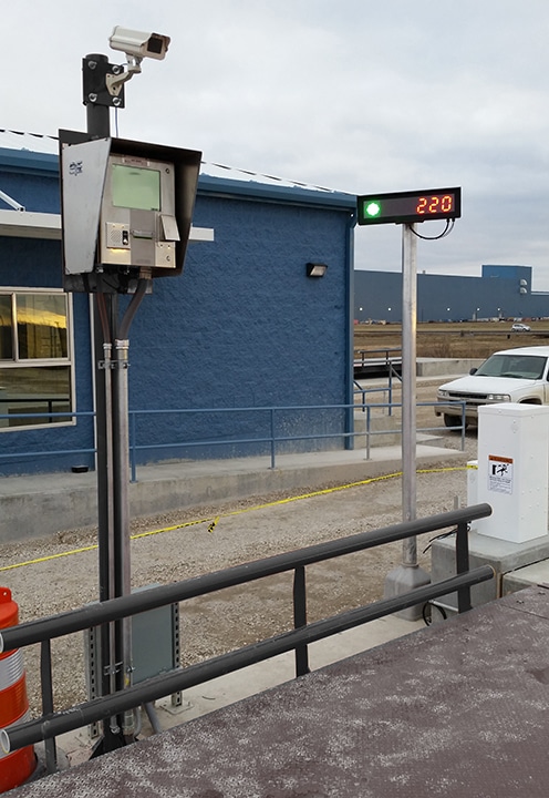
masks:
MULTIPOLYGON (((86 55, 83 63, 84 104, 91 139, 111 135, 110 109, 113 104, 101 91, 89 91, 89 75, 97 89, 108 70, 102 54, 86 55)), ((92 294, 95 351, 95 424, 97 449, 97 520, 100 602, 131 591, 130 529, 127 497, 127 340, 117 340, 118 296, 102 290, 92 294), (113 346, 115 351, 113 352, 113 346), (114 357, 113 357, 114 355, 114 357), (124 375, 120 379, 118 371, 124 375), (122 396, 122 398, 121 398, 122 396), (125 413, 125 419, 121 415, 125 413), (125 448, 124 448, 125 447, 125 448), (124 469, 124 462, 126 463, 124 469), (122 507, 122 504, 124 507, 122 507)), ((131 678, 130 621, 108 624, 101 630, 101 694, 110 695, 127 686, 131 678)), ((103 724, 103 737, 94 755, 120 748, 133 738, 133 715, 110 718, 103 724)))

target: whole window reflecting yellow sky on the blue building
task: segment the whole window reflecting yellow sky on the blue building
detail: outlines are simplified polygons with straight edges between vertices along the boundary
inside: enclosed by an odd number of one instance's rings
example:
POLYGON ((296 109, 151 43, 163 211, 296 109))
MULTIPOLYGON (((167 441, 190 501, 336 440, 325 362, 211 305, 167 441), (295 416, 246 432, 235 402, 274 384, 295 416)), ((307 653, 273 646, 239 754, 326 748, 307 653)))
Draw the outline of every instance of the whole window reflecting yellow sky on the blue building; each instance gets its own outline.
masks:
POLYGON ((70 423, 48 415, 71 409, 68 295, 0 288, 0 429, 70 423))

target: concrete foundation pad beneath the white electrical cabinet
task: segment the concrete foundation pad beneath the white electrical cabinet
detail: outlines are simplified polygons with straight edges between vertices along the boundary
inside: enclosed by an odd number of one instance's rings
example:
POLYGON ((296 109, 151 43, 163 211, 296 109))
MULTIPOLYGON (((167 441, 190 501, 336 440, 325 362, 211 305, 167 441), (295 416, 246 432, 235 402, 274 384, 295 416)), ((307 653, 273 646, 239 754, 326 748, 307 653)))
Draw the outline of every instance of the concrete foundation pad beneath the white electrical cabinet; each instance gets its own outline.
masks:
MULTIPOLYGON (((456 536, 439 538, 433 541, 431 548, 431 576, 433 582, 447 579, 456 573, 455 560, 456 536)), ((549 534, 543 538, 536 538, 526 543, 510 543, 509 541, 498 540, 497 538, 488 538, 487 535, 469 532, 469 563, 470 567, 479 565, 491 565, 496 572, 496 579, 474 585, 470 591, 473 606, 485 604, 504 595, 504 579, 512 579, 511 574, 526 570, 532 563, 540 563, 549 557, 549 534)), ((549 581, 549 573, 548 580, 549 581)), ((518 583, 517 583, 518 584, 518 583)), ((520 584, 515 590, 531 584, 520 584)), ((511 590, 505 591, 507 593, 511 590)), ((443 604, 457 607, 457 597, 455 593, 441 597, 443 604)))

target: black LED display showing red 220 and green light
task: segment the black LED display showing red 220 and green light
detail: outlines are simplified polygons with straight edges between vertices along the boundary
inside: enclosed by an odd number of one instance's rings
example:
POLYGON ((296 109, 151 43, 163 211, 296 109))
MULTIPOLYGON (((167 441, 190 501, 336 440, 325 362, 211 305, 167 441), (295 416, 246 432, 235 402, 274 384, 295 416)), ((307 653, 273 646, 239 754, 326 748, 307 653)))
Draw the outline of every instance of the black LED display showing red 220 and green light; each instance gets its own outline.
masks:
POLYGON ((366 194, 358 197, 360 225, 412 224, 426 219, 454 219, 462 215, 460 188, 366 194))

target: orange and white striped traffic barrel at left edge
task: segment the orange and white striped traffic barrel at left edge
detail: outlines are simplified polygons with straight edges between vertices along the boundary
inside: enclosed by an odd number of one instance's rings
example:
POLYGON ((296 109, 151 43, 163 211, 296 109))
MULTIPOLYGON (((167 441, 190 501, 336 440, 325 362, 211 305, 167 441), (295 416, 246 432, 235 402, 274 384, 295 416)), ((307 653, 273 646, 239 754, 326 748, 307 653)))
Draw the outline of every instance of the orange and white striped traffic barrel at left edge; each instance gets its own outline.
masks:
MULTIPOLYGON (((19 623, 19 607, 11 598, 8 587, 0 587, 0 628, 19 623)), ((10 728, 29 719, 29 699, 19 648, 0 654, 0 729, 10 728)), ((4 736, 4 735, 3 735, 4 736)), ((37 766, 34 748, 27 746, 6 753, 0 746, 0 792, 19 787, 32 776, 37 766)))

